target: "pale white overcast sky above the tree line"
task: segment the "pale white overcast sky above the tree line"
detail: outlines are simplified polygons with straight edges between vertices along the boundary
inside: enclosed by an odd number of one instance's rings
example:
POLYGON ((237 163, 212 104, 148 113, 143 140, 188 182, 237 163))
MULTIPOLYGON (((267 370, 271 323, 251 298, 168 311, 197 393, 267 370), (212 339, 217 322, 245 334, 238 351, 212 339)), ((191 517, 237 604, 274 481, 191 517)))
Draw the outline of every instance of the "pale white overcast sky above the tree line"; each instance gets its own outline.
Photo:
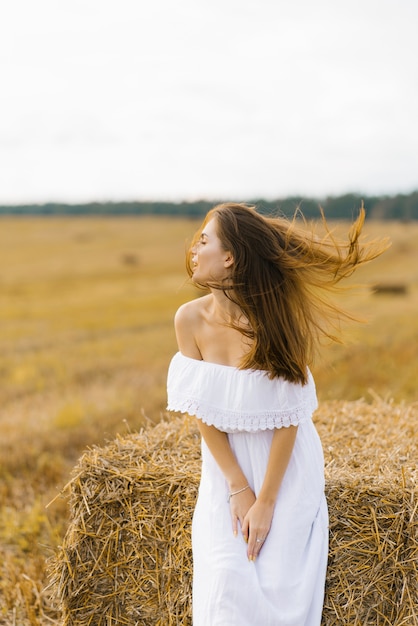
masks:
POLYGON ((0 0, 0 203, 418 189, 417 0, 0 0))

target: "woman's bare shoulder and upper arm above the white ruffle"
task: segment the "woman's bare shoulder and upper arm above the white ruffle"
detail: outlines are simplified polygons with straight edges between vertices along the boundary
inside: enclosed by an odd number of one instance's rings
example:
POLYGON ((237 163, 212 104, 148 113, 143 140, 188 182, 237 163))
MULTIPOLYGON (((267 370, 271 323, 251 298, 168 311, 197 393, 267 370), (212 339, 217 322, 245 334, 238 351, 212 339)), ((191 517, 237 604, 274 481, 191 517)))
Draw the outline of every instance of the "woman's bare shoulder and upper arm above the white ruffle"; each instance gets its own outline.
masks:
POLYGON ((179 350, 185 356, 193 359, 202 358, 196 337, 208 305, 207 298, 208 296, 203 296, 182 304, 174 316, 174 328, 179 350))

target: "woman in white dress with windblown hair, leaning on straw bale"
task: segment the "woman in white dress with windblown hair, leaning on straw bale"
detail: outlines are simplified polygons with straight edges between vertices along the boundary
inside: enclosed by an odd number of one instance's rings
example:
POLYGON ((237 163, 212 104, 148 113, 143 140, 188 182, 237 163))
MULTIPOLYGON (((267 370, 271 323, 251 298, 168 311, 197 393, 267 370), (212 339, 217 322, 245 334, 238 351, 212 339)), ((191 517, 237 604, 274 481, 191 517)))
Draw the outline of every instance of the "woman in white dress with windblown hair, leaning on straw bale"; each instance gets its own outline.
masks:
POLYGON ((319 626, 328 553, 308 369, 344 315, 324 294, 383 246, 347 244, 254 207, 212 209, 188 254, 208 294, 175 316, 168 409, 197 418, 194 626, 319 626), (331 322, 331 324, 330 324, 331 322))

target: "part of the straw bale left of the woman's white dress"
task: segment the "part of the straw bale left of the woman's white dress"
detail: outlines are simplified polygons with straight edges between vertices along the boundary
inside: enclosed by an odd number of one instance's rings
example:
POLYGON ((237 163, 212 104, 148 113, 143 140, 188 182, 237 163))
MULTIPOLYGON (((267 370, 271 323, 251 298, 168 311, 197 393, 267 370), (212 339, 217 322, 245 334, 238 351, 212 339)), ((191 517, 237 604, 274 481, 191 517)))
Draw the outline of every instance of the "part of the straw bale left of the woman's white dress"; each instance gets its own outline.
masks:
POLYGON ((74 468, 71 521, 52 563, 63 626, 187 622, 199 479, 190 424, 117 437, 74 468))

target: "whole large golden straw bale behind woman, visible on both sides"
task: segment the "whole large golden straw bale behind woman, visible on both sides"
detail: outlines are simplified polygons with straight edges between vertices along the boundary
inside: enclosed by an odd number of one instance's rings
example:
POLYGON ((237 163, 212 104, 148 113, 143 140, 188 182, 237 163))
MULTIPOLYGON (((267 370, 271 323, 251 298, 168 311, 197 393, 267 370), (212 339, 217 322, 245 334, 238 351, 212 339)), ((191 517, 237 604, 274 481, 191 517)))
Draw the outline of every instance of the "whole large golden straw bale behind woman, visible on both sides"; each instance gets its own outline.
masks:
MULTIPOLYGON (((418 624, 416 406, 322 404, 330 557, 323 626, 418 624)), ((88 450, 51 563, 63 626, 190 626, 199 436, 173 418, 88 450)))

